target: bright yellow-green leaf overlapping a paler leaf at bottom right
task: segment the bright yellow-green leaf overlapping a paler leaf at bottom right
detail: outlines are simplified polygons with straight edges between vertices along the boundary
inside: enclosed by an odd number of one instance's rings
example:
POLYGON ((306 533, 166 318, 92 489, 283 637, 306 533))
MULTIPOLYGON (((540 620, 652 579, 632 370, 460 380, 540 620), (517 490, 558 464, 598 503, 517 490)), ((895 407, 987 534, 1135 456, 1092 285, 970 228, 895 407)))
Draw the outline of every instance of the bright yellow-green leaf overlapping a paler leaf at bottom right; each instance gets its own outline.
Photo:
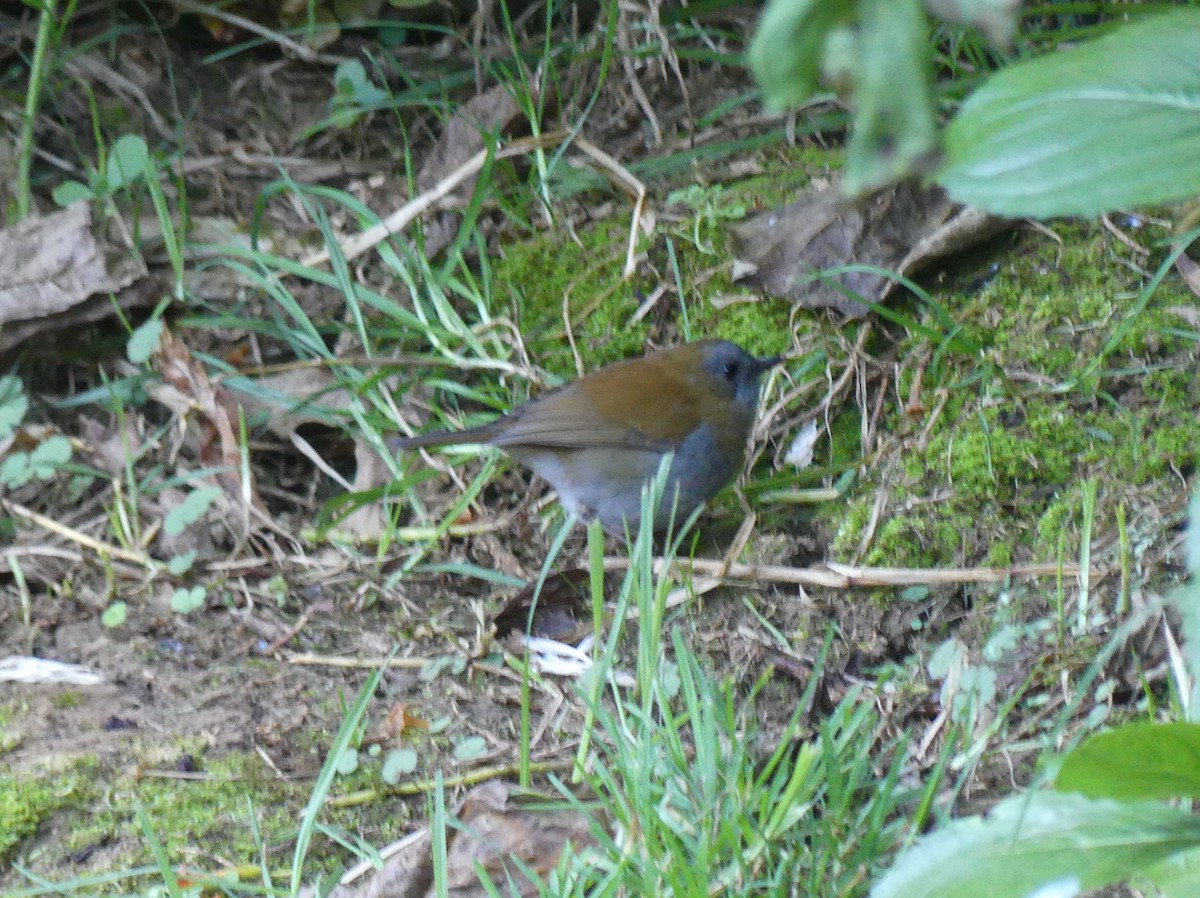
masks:
POLYGON ((1200 796, 1200 725, 1138 723, 1092 736, 1063 760, 1055 788, 1127 801, 1200 796))

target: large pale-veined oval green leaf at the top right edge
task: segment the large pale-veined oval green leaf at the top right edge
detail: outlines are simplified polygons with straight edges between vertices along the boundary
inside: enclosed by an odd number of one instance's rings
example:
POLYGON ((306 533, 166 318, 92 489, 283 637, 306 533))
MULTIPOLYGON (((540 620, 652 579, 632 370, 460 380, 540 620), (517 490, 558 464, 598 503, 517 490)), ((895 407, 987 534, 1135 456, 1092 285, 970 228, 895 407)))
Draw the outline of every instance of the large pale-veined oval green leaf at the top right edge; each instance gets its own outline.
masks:
POLYGON ((1200 10, 1013 65, 962 104, 936 180, 1014 217, 1099 215, 1200 193, 1200 10))

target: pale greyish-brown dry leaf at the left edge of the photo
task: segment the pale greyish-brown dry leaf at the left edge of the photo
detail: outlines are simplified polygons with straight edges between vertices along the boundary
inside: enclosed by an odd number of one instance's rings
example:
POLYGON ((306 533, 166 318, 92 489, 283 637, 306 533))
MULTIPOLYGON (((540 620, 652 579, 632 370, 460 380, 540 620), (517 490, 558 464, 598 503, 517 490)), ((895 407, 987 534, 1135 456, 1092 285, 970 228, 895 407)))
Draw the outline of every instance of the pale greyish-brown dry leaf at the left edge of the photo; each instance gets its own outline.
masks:
POLYGON ((97 235, 86 202, 0 229, 0 352, 112 315, 110 293, 122 309, 151 301, 125 289, 145 277, 142 257, 97 235))

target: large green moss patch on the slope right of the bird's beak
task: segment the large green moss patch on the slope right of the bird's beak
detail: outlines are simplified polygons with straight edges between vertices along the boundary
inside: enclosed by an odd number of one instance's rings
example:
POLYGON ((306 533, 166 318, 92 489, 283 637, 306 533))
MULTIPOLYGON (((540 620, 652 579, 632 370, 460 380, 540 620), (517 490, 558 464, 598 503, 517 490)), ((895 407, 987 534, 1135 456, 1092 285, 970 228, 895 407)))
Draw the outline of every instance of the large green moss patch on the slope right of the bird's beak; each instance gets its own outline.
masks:
MULTIPOLYGON (((1195 471, 1200 378, 1187 363, 1194 341, 1170 312, 1190 300, 1164 286, 1132 315, 1141 283, 1112 258, 1110 239, 1086 226, 1060 233, 1062 246, 1021 238, 982 291, 965 274, 938 295, 980 357, 925 335, 900 347, 900 358, 936 359, 922 396, 935 408, 942 390, 944 402, 932 426, 918 425, 923 439, 906 444, 898 468, 876 472, 888 479, 888 504, 865 563, 1050 561, 1062 534, 1068 552, 1078 547, 1086 479, 1099 479, 1103 529, 1116 505, 1177 490, 1172 469, 1195 471)), ((902 311, 944 330, 920 307, 902 311)), ((902 370, 899 395, 913 381, 902 370)), ((890 433, 911 426, 894 407, 880 424, 890 433)), ((858 547, 876 489, 868 481, 850 509, 836 509, 833 557, 858 547)))

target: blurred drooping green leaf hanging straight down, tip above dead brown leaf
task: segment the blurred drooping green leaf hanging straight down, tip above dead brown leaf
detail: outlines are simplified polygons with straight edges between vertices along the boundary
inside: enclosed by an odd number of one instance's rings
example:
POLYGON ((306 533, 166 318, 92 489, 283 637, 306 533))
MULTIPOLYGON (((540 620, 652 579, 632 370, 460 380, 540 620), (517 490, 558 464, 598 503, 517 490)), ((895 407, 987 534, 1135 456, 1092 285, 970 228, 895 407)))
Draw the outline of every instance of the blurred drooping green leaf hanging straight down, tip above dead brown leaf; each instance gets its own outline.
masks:
POLYGON ((854 66, 854 124, 842 191, 878 190, 928 167, 937 149, 920 0, 862 0, 854 66))

